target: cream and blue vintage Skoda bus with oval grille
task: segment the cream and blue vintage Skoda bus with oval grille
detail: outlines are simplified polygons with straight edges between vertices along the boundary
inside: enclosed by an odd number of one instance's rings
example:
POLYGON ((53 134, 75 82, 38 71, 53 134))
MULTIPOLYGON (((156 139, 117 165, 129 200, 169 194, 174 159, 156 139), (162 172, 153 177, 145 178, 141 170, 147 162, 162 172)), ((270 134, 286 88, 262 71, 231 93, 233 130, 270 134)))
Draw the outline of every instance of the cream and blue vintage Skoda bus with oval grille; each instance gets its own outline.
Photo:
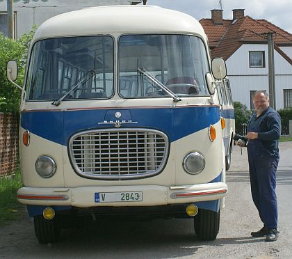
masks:
MULTIPOLYGON (((15 61, 7 74, 15 84, 15 61)), ((234 121, 225 77, 184 13, 107 6, 44 22, 17 86, 17 199, 38 241, 57 242, 76 218, 110 215, 193 219, 200 240, 215 240, 234 121)))

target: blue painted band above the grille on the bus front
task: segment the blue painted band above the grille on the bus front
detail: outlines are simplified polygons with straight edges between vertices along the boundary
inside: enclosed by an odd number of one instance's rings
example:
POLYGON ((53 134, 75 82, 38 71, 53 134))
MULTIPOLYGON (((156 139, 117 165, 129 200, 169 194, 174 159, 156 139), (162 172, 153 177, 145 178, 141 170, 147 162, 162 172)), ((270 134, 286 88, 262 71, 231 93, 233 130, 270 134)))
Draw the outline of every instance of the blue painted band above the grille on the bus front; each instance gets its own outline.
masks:
MULTIPOLYGON (((76 132, 83 130, 114 127, 102 125, 104 120, 117 120, 111 109, 92 109, 75 111, 26 111, 22 113, 21 125, 25 130, 44 139, 67 146, 67 140, 76 132)), ((145 127, 168 134, 170 142, 193 134, 218 122, 219 109, 213 107, 179 108, 131 108, 115 109, 126 114, 127 119, 137 124, 124 124, 123 127, 145 127), (131 117, 131 119, 130 119, 131 117)))

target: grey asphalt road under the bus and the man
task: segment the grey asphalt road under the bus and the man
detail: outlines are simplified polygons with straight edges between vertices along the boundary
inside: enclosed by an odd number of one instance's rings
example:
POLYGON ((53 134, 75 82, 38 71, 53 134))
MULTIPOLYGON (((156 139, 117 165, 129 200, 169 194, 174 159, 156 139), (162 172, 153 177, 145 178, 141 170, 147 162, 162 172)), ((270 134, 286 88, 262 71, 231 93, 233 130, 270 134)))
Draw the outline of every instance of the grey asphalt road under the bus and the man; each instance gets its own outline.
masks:
POLYGON ((63 232, 58 244, 40 245, 26 217, 0 228, 0 258, 292 258, 292 142, 280 144, 277 172, 279 239, 251 237, 261 228, 250 196, 246 150, 234 148, 229 194, 217 240, 197 240, 191 219, 97 221, 63 232))

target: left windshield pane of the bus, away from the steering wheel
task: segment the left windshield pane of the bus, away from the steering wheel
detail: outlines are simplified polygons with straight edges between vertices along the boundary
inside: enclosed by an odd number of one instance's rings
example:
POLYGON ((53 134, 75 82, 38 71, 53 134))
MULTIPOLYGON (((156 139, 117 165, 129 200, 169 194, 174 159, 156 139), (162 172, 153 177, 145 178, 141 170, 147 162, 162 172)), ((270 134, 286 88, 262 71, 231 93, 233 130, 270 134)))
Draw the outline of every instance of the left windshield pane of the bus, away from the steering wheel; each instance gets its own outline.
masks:
POLYGON ((114 89, 113 46, 111 36, 54 38, 36 42, 26 79, 27 99, 111 97, 114 89))

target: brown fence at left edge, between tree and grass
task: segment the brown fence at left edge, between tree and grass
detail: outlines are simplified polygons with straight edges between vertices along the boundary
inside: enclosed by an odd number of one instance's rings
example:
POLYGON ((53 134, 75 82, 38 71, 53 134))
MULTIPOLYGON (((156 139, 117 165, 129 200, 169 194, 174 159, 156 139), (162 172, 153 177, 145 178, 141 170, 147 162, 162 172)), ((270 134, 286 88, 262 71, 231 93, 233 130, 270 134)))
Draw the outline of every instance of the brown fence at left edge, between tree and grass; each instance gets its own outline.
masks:
POLYGON ((18 116, 0 113, 0 176, 15 170, 18 159, 18 116))

